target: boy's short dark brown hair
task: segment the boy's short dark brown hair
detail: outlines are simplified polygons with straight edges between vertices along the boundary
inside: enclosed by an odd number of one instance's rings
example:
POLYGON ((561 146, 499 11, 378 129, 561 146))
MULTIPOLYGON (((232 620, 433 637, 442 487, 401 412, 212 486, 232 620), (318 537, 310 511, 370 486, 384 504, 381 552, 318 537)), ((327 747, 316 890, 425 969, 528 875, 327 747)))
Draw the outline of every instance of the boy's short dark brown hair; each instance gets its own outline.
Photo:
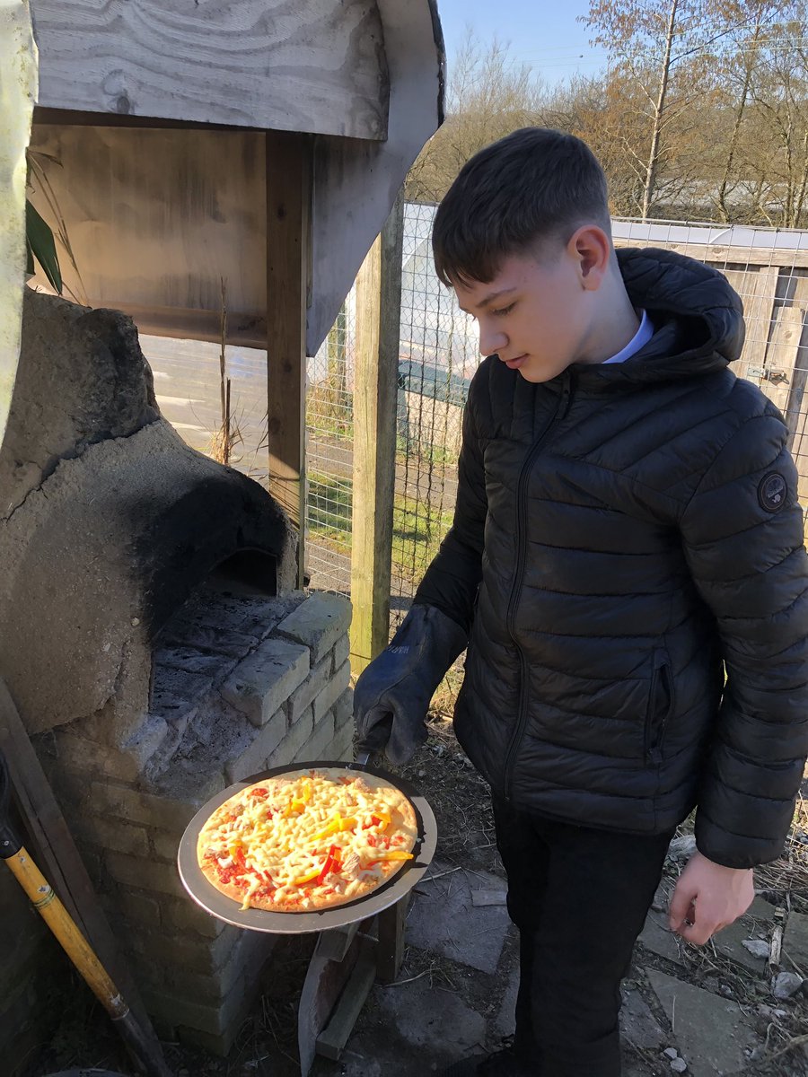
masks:
POLYGON ((437 207, 432 251, 444 284, 493 280, 504 257, 586 222, 610 230, 607 181, 574 135, 523 127, 476 153, 437 207))

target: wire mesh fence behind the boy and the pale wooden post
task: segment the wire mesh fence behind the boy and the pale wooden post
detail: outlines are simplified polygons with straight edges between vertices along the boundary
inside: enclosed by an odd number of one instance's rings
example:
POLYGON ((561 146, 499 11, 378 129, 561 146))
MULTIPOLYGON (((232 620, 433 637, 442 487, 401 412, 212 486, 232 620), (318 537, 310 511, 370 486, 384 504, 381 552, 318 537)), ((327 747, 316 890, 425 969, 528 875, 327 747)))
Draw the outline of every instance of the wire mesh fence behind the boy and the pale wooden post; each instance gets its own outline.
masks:
MULTIPOLYGON (((462 409, 480 358, 473 321, 434 272, 434 206, 414 204, 404 212, 391 632, 451 524, 462 409)), ((743 300, 747 321, 743 352, 734 368, 760 386, 785 417, 800 474, 800 499, 808 502, 808 233, 615 220, 613 235, 617 247, 674 250, 729 279, 743 300)), ((350 297, 347 309, 351 310, 350 297)), ((350 513, 342 514, 342 506, 350 501, 347 417, 352 414, 353 337, 350 316, 343 317, 347 327, 338 331, 343 333, 338 339, 346 346, 338 361, 345 373, 335 374, 336 353, 326 342, 315 361, 309 390, 308 527, 312 585, 348 593, 350 513), (334 411, 324 411, 322 403, 332 397, 333 408, 346 417, 339 451, 334 448, 334 411), (328 533, 324 519, 334 524, 328 533)), ((443 686, 443 702, 450 703, 459 682, 456 669, 443 686)))

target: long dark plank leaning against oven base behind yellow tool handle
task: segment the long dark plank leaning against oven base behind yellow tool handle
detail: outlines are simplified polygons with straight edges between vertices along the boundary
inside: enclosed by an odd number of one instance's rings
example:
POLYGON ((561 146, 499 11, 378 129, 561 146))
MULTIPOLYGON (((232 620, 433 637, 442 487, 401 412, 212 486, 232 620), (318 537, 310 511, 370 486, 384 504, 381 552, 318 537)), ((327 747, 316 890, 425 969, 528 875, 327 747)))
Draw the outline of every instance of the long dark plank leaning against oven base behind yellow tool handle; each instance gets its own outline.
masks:
POLYGON ((44 873, 96 956, 156 1043, 143 1003, 98 901, 84 862, 56 802, 5 682, 0 677, 2 749, 26 826, 42 855, 44 873))

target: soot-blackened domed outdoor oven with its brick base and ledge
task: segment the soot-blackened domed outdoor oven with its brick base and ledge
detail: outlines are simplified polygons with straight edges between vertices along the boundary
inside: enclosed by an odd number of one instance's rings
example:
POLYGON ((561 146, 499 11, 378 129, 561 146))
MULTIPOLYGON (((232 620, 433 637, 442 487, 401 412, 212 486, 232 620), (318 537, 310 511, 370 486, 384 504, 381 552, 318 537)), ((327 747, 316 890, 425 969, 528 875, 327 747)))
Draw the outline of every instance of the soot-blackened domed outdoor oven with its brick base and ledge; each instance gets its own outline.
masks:
POLYGON ((177 847, 232 782, 350 756, 348 603, 292 589, 287 517, 162 419, 128 318, 32 292, 0 521, 0 675, 158 1029, 224 1051, 270 937, 177 847))

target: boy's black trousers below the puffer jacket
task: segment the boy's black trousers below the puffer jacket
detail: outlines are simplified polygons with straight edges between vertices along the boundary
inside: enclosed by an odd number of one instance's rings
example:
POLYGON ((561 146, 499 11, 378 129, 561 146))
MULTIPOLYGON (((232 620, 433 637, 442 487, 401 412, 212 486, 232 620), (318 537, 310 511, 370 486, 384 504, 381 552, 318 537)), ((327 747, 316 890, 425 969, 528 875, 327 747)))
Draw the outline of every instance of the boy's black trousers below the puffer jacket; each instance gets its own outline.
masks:
POLYGON ((516 1051, 537 1077, 619 1077, 619 982, 672 831, 596 830, 492 799, 519 928, 516 1051))

